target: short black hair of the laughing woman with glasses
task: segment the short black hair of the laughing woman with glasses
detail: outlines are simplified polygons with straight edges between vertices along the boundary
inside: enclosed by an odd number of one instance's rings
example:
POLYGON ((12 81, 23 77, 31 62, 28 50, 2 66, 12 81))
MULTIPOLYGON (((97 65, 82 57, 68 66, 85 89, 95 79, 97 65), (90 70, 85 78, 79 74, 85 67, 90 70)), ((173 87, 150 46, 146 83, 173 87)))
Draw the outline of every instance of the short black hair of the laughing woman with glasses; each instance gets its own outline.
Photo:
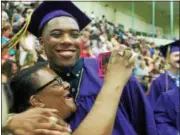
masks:
POLYGON ((11 111, 20 113, 25 111, 29 104, 29 98, 37 93, 35 86, 32 82, 32 74, 39 69, 47 66, 47 62, 39 62, 32 67, 26 68, 19 73, 15 74, 9 82, 9 88, 12 91, 14 103, 11 111))

